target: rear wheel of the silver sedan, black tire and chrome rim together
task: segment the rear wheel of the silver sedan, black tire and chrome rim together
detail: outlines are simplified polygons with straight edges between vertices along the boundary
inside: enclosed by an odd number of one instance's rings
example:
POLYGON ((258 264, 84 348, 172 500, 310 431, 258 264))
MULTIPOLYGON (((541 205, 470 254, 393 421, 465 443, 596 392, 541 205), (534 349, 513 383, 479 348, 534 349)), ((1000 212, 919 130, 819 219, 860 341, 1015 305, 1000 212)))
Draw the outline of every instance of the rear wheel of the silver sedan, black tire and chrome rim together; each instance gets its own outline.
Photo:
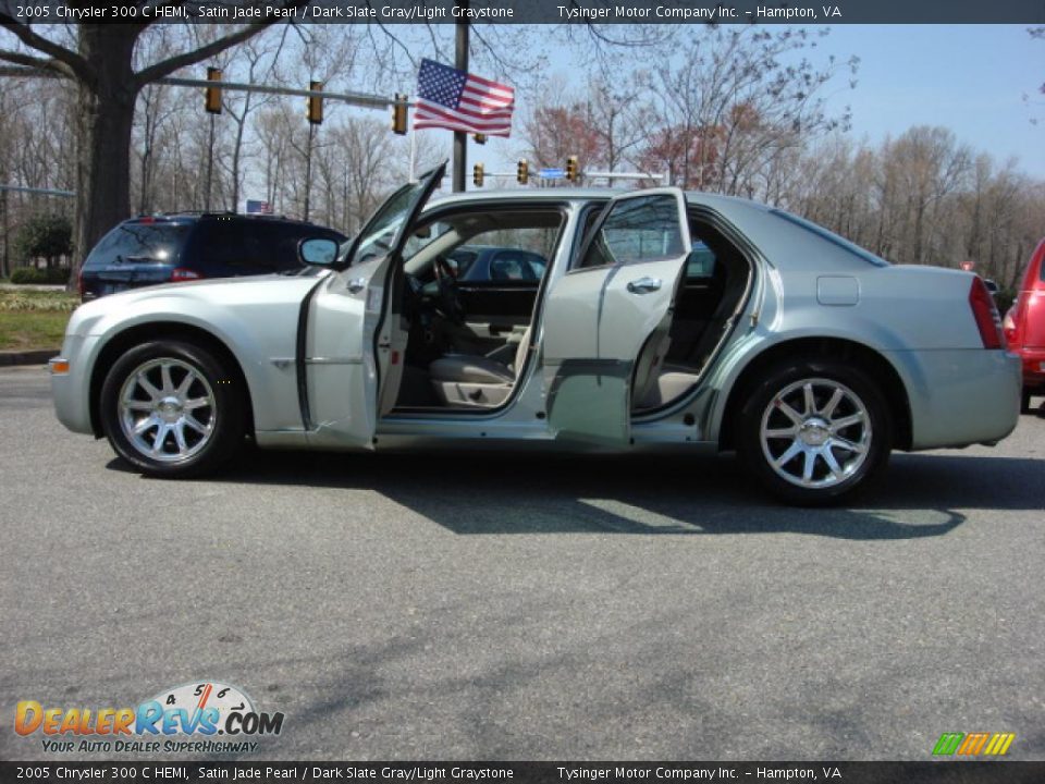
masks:
POLYGON ((889 407, 860 368, 792 360, 772 368, 740 411, 741 460, 788 503, 836 503, 885 467, 893 441, 889 407))

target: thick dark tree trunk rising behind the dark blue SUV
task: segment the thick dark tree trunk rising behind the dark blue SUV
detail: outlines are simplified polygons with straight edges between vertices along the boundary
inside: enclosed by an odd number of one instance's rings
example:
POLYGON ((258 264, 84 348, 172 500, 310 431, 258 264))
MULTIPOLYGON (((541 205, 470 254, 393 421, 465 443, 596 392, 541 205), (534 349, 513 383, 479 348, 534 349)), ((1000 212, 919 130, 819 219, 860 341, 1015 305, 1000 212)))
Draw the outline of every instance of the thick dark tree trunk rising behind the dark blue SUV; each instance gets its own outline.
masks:
POLYGON ((97 77, 78 82, 76 216, 70 287, 98 241, 131 213, 131 128, 137 88, 131 68, 137 29, 79 25, 79 53, 97 77))

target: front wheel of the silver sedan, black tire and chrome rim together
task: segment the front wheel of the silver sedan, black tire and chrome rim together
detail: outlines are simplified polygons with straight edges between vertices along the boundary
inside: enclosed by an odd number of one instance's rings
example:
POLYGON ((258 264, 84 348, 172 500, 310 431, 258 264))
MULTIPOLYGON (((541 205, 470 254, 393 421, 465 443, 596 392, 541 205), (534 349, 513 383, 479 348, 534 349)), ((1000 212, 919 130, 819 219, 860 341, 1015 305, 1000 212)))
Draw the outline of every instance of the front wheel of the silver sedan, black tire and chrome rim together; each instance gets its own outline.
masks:
POLYGON ((116 454, 143 474, 182 478, 228 461, 243 441, 244 395, 225 363, 192 343, 155 341, 112 366, 101 422, 116 454))

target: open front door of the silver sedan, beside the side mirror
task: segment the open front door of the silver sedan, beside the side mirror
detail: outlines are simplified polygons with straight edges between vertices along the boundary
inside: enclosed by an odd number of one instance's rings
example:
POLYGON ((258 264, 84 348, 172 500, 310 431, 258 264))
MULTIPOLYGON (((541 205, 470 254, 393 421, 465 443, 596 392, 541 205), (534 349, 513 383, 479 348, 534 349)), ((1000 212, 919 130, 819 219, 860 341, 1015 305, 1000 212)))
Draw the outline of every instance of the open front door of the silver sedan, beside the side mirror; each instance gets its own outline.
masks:
MULTIPOLYGON (((373 444, 381 390, 397 387, 402 377, 403 357, 391 345, 389 291, 403 266, 403 247, 445 169, 443 163, 394 193, 306 304, 298 372, 303 419, 316 445, 373 444)), ((395 391, 389 390, 393 399, 395 391)))

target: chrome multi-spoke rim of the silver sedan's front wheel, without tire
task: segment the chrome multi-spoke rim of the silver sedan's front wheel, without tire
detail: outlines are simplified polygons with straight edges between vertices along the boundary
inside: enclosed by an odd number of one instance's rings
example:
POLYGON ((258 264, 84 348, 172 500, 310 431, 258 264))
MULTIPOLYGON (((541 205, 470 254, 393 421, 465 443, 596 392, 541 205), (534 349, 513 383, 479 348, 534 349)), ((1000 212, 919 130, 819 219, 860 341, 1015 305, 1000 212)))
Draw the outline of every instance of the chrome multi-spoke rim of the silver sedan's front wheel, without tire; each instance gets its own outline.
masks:
POLYGON ((182 359, 150 359, 123 382, 120 427, 143 456, 181 463, 200 452, 214 433, 218 407, 204 375, 182 359))

